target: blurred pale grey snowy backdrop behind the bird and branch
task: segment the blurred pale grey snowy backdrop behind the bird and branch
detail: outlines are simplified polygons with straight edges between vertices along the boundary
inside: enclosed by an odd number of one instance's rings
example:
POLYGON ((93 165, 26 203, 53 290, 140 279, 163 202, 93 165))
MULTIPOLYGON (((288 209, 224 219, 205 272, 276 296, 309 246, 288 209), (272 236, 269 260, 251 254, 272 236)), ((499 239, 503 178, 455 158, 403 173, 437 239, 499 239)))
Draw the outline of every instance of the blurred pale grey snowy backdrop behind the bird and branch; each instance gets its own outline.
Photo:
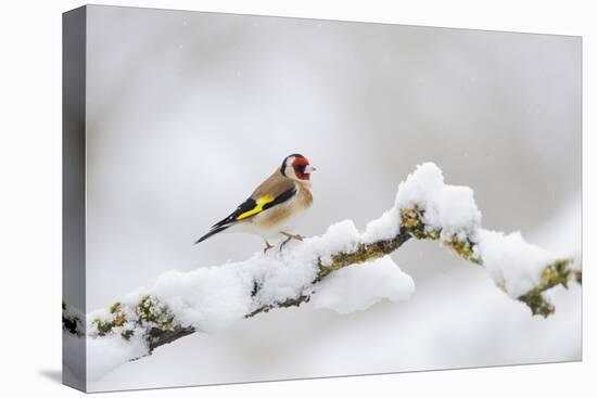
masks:
MULTIPOLYGON (((89 18, 88 311, 261 249, 246 235, 192 243, 294 152, 318 169, 303 234, 365 228, 432 161, 474 190, 486 228, 580 251, 579 38, 100 7, 89 18)), ((577 290, 545 321, 434 244, 393 259, 415 280, 409 301, 256 317, 91 387, 580 358, 577 290)))

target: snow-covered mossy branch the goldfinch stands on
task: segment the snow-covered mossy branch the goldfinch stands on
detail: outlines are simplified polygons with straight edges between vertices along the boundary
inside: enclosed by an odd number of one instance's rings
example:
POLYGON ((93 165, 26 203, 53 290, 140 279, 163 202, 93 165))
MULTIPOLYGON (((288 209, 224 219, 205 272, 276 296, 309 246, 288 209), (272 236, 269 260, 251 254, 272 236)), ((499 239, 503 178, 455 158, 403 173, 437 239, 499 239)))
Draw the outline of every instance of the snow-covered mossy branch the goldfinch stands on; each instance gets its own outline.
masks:
MULTIPOLYGON (((545 291, 582 279, 572 258, 554 256, 519 232, 482 229, 472 190, 445 184, 437 166, 427 163, 399 184, 394 206, 364 232, 345 220, 283 251, 191 272, 170 271, 152 288, 88 314, 88 359, 102 358, 88 370, 101 375, 191 333, 211 333, 242 318, 309 300, 340 313, 382 299, 406 300, 415 284, 389 255, 410 239, 439 241, 484 267, 501 291, 533 314, 554 313, 545 291)), ((65 325, 64 320, 65 330, 82 333, 80 321, 71 319, 65 325)))

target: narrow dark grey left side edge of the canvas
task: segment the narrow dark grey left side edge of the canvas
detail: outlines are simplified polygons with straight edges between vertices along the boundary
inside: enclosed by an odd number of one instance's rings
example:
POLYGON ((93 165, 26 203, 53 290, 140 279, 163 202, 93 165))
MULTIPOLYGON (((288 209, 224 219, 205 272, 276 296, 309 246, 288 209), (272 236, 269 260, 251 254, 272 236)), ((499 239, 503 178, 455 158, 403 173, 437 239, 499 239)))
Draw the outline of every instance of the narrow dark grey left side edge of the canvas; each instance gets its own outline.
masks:
MULTIPOLYGON (((86 310, 87 7, 62 14, 62 300, 86 310)), ((86 391, 86 339, 63 330, 62 383, 86 391), (76 344, 73 344, 76 342, 76 344), (80 344, 79 344, 80 342, 80 344)))

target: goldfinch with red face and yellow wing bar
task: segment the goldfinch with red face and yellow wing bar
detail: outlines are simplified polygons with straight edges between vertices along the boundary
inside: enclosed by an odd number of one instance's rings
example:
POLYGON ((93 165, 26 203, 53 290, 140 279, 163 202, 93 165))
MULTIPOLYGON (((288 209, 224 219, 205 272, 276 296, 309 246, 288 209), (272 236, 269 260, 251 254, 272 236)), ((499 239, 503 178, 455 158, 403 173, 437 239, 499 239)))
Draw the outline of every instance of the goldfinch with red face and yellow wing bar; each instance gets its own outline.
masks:
POLYGON ((224 231, 257 234, 265 241, 264 254, 274 247, 269 240, 285 236, 280 251, 292 240, 303 241, 300 234, 289 232, 291 221, 303 215, 313 204, 310 175, 316 168, 298 154, 288 155, 271 176, 228 217, 214 223, 194 244, 224 231))

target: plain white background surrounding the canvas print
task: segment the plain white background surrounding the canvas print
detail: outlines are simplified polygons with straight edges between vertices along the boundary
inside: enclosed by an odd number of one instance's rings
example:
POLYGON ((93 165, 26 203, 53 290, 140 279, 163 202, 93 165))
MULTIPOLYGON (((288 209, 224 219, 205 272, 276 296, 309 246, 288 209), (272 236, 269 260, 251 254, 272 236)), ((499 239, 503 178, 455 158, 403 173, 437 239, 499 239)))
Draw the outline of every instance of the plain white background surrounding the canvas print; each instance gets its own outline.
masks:
MULTIPOLYGON (((123 2, 107 2, 125 4, 123 2)), ((449 26, 516 31, 536 31, 584 36, 584 110, 589 106, 592 64, 589 10, 543 2, 500 1, 495 5, 478 2, 418 2, 417 7, 381 4, 342 7, 332 2, 253 1, 251 7, 238 1, 145 1, 126 5, 179 8, 203 11, 256 13, 350 21, 386 22, 430 26, 449 26)), ((0 133, 0 251, 3 267, 0 338, 2 388, 8 396, 43 391, 67 396, 74 393, 61 386, 60 377, 60 251, 61 251, 61 12, 80 5, 55 1, 53 4, 4 5, 0 40, 2 59, 0 78, 2 113, 0 133), (14 10, 13 10, 14 9, 14 10), (8 88, 8 89, 7 89, 8 88), (21 393, 21 394, 20 394, 21 393)), ((584 112, 584 191, 588 203, 589 153, 587 118, 584 112)), ((585 207, 585 220, 589 211, 585 207)), ((585 222, 588 228, 588 222, 585 222)), ((533 394, 543 396, 583 396, 588 394, 593 365, 588 318, 590 297, 589 232, 585 229, 585 345, 584 363, 541 367, 515 367, 469 371, 423 372, 385 376, 334 378, 309 382, 201 387, 168 390, 168 396, 207 394, 243 395, 423 395, 453 391, 458 396, 505 396, 533 394)), ((595 372, 595 369, 593 369, 595 372)), ((134 395, 135 393, 128 393, 134 395)), ((143 391, 139 396, 166 395, 143 391)))

